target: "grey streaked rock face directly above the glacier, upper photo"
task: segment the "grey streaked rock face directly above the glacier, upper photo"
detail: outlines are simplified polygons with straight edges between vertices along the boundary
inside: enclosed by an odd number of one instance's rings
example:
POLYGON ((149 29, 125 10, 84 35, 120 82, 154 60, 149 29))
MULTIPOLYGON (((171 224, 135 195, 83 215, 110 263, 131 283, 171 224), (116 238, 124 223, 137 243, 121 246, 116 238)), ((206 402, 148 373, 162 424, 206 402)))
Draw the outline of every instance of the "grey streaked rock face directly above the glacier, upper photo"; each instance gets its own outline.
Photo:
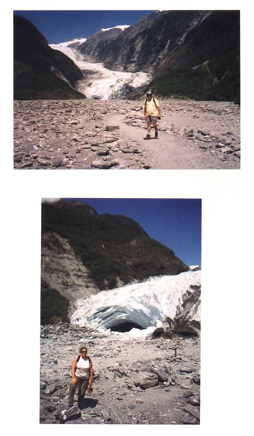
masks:
MULTIPOLYGON (((105 67, 111 70, 153 73, 157 59, 167 58, 170 51, 182 44, 188 31, 209 14, 210 11, 154 12, 142 17, 117 38, 106 41, 102 35, 103 47, 92 39, 95 46, 89 53, 93 53, 94 61, 104 61, 105 67)), ((84 54, 88 54, 88 41, 89 38, 79 48, 84 54)))

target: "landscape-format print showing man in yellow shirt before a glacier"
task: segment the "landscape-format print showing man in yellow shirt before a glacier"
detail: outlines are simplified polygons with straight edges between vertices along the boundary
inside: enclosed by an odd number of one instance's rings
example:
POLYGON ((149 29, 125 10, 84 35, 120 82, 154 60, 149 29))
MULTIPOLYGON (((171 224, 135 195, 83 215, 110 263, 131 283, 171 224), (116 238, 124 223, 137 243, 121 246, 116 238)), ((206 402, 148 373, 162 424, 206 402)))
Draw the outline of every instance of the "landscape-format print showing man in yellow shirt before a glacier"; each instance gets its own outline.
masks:
POLYGON ((239 168, 239 10, 14 10, 14 169, 239 168))

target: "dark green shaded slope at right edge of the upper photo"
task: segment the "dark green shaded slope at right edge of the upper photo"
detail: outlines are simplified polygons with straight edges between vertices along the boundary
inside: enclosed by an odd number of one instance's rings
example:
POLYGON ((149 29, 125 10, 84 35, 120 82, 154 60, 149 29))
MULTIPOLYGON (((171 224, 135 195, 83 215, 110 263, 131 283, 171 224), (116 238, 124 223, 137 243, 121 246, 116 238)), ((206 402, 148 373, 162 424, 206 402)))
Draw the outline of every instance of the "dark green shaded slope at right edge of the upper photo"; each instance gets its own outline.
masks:
POLYGON ((154 65, 155 92, 240 105, 240 11, 213 11, 154 65))

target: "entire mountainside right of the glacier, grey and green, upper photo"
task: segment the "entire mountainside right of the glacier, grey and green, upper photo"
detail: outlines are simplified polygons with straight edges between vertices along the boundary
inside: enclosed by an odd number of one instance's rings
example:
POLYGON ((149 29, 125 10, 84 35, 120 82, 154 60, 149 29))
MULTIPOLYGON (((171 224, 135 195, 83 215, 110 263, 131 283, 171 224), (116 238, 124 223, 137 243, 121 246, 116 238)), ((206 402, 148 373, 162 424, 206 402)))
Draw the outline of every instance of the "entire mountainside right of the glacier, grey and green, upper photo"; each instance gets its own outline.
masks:
MULTIPOLYGON (((157 11, 118 35, 97 32, 78 50, 110 70, 146 72, 158 95, 240 101, 240 11, 157 11)), ((130 97, 129 97, 130 98, 130 97)))

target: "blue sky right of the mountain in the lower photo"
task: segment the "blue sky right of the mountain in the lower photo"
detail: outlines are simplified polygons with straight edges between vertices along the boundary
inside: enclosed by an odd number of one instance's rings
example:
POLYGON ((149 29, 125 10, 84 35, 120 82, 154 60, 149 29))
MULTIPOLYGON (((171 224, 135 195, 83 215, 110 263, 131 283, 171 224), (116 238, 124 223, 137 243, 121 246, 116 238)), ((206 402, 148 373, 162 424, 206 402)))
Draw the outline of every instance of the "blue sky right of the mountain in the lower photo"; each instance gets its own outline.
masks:
POLYGON ((88 203, 99 214, 125 215, 166 245, 186 265, 201 265, 201 199, 63 198, 88 203))

